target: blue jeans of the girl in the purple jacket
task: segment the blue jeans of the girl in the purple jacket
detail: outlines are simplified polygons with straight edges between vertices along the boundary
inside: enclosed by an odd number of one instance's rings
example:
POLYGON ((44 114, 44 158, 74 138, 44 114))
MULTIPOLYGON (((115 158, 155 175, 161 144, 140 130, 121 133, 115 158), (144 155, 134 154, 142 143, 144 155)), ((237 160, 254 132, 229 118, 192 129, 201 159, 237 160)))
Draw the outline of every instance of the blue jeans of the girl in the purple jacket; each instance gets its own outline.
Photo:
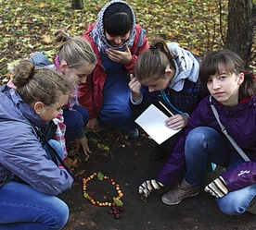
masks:
MULTIPOLYGON (((186 137, 186 181, 196 187, 202 184, 210 163, 231 170, 244 160, 236 151, 230 151, 228 140, 211 127, 196 127, 186 137)), ((216 202, 226 214, 238 215, 246 212, 256 196, 256 185, 229 192, 216 202)))

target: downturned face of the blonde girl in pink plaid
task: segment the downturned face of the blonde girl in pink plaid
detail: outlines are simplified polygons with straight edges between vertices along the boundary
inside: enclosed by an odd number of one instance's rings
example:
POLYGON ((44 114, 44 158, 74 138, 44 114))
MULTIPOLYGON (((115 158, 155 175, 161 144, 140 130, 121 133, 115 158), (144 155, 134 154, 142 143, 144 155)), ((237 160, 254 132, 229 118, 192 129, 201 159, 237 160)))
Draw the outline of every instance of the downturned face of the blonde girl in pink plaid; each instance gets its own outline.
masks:
POLYGON ((94 64, 84 64, 80 68, 65 69, 65 76, 74 84, 85 83, 87 77, 93 72, 96 66, 94 64))

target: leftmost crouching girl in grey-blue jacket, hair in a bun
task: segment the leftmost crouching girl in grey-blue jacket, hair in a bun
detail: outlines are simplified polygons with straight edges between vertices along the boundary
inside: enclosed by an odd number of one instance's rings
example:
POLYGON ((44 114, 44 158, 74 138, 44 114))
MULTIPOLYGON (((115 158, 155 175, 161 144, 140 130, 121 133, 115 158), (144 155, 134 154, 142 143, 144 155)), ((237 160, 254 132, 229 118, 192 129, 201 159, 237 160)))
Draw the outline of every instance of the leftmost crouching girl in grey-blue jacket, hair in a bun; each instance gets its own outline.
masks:
POLYGON ((16 90, 0 88, 0 229, 61 229, 69 208, 56 196, 73 178, 47 155, 36 130, 60 113, 70 84, 29 60, 19 64, 13 83, 16 90))

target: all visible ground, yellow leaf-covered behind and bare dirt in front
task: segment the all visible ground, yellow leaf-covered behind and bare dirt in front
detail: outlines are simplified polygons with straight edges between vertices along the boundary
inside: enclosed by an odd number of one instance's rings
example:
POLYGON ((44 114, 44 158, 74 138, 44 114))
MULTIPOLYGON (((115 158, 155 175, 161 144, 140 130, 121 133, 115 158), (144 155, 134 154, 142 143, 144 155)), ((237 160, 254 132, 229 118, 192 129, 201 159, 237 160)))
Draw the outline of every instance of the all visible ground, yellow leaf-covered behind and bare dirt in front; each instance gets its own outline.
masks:
MULTIPOLYGON (((34 51, 44 52, 49 58, 55 54, 54 33, 58 29, 69 31, 71 36, 81 36, 109 0, 83 2, 82 10, 72 10, 69 0, 0 0, 0 85, 11 78, 10 72, 17 61, 27 59, 34 51)), ((134 8, 136 22, 147 30, 148 38, 157 35, 167 42, 178 42, 200 57, 224 45, 227 0, 128 2, 134 8)), ((109 207, 92 205, 83 198, 82 185, 75 182, 60 195, 70 207, 70 219, 64 230, 256 229, 255 215, 227 216, 203 190, 175 206, 166 206, 160 200, 170 188, 155 191, 147 202, 142 201, 138 186, 155 178, 168 158, 154 161, 149 157, 155 142, 143 131, 134 140, 125 139, 117 130, 101 136, 89 133, 88 137, 92 156, 85 159, 83 154, 74 154, 70 145, 67 163, 81 179, 100 172, 119 183, 124 212, 117 220, 109 214, 109 207)), ((208 175, 205 183, 216 176, 217 173, 208 175)), ((112 200, 117 192, 108 182, 95 177, 88 182, 86 191, 96 200, 112 200)))

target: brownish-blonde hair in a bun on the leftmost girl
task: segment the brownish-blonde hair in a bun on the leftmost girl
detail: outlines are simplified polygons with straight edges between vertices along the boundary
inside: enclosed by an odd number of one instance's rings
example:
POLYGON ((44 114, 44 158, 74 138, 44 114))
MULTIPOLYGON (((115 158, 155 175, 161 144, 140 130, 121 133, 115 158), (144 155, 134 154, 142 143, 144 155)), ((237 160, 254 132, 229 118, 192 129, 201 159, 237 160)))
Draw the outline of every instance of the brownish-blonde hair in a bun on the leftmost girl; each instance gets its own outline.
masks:
POLYGON ((48 68, 35 68, 31 61, 24 60, 14 70, 13 84, 25 103, 45 103, 51 107, 61 95, 70 94, 70 84, 58 72, 48 68))

